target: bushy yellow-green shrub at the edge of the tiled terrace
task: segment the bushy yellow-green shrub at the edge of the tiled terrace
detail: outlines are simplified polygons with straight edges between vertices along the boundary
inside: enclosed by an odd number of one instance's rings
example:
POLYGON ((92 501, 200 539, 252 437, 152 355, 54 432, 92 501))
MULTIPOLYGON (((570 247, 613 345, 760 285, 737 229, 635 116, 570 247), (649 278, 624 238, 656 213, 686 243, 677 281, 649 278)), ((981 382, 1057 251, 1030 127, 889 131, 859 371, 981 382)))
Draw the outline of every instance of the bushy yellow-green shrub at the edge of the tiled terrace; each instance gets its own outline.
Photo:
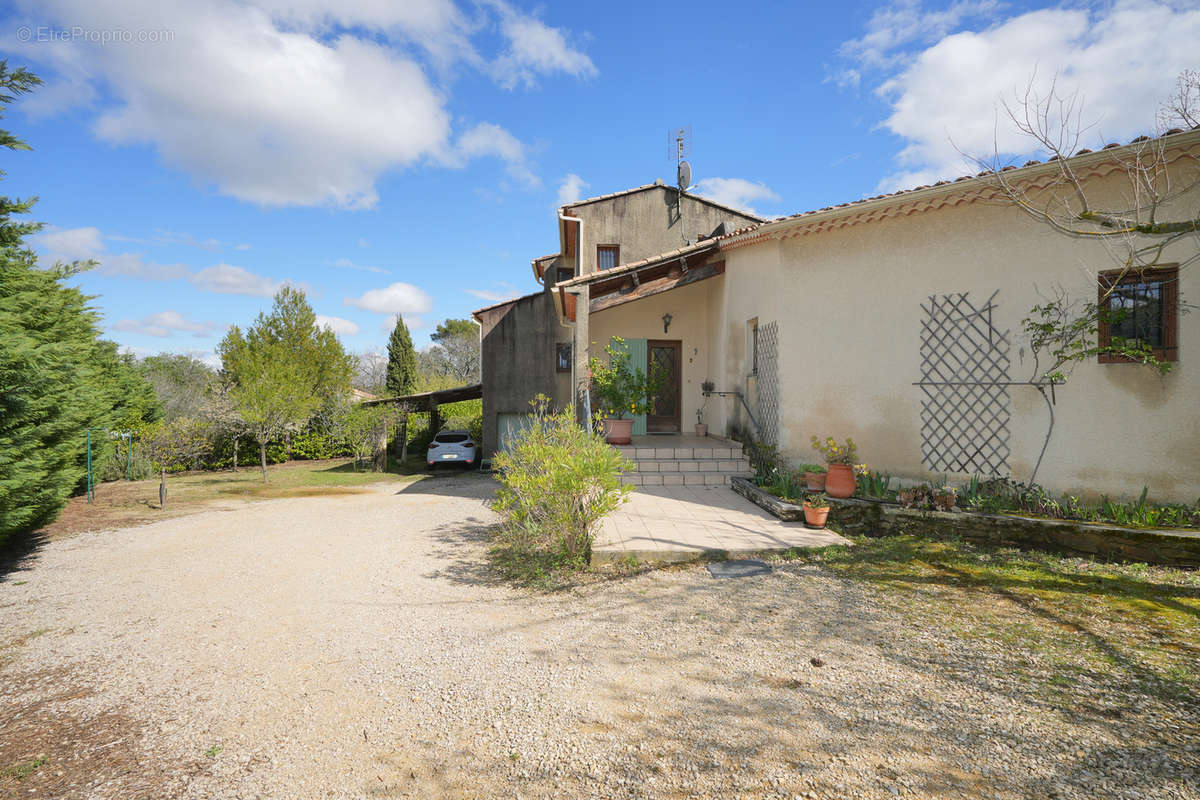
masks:
POLYGON ((632 488, 620 482, 629 468, 599 433, 588 433, 570 409, 550 411, 539 395, 530 425, 493 459, 500 489, 493 507, 504 517, 499 545, 533 572, 582 569, 592 558, 595 525, 632 488))

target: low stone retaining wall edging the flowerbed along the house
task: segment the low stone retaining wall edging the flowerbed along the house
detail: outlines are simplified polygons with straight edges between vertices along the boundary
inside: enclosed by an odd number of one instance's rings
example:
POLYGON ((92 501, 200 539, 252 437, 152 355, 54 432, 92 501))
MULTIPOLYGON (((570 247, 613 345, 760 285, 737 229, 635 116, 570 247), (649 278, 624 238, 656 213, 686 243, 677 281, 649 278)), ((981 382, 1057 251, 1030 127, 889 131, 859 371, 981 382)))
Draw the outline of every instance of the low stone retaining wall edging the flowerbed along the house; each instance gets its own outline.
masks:
MULTIPOLYGON (((732 488, 780 519, 804 519, 800 506, 733 479, 732 488)), ((829 522, 847 536, 916 534, 961 537, 1002 547, 1086 554, 1122 561, 1200 567, 1200 533, 1121 528, 1069 519, 1039 519, 968 511, 916 511, 875 500, 829 499, 829 522)))

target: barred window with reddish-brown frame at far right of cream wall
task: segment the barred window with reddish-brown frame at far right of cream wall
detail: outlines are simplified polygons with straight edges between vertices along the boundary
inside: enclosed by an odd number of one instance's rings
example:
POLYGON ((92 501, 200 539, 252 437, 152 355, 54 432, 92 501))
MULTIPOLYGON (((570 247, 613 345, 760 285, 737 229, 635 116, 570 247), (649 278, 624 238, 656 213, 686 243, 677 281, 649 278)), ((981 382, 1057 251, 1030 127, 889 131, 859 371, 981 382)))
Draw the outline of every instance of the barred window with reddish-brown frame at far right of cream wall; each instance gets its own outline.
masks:
MULTIPOLYGON (((1110 347, 1114 339, 1138 339, 1154 350, 1160 361, 1175 361, 1177 353, 1180 270, 1176 266, 1157 270, 1100 272, 1099 345, 1110 347)), ((1100 354, 1103 363, 1120 363, 1126 359, 1100 354)))

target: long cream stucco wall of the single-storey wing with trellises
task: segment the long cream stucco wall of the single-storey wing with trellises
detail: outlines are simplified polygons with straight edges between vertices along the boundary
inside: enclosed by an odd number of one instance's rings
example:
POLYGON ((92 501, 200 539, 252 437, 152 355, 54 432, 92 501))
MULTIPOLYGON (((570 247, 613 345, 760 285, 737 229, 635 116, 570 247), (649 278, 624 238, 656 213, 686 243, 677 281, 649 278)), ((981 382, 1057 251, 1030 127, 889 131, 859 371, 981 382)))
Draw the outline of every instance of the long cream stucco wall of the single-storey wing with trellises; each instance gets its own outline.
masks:
MULTIPOLYGON (((1116 186, 1114 185, 1114 190, 1116 186)), ((1098 190, 1097 190, 1098 191, 1098 190)), ((1195 239, 1177 249, 1180 260, 1195 239)), ((746 385, 745 321, 778 321, 784 408, 780 447, 814 461, 810 435, 851 435, 860 461, 925 479, 922 464, 922 303, 967 291, 982 305, 997 289, 995 324, 1010 331, 1010 379, 1033 377, 1021 319, 1055 285, 1094 301, 1111 254, 1055 234, 1012 206, 973 203, 767 241, 725 253, 725 293, 714 312, 719 383, 746 385)), ((1200 267, 1181 273, 1182 299, 1200 296, 1200 267)), ((1038 482, 1087 497, 1127 498, 1150 486, 1158 500, 1200 495, 1200 317, 1180 314, 1178 362, 1165 378, 1136 365, 1080 363, 1055 395, 1055 429, 1038 482)), ((732 405, 714 425, 734 420, 732 405)), ((1027 480, 1048 410, 1032 387, 1010 389, 1008 465, 1027 480)), ((965 475, 950 475, 965 479, 965 475)))

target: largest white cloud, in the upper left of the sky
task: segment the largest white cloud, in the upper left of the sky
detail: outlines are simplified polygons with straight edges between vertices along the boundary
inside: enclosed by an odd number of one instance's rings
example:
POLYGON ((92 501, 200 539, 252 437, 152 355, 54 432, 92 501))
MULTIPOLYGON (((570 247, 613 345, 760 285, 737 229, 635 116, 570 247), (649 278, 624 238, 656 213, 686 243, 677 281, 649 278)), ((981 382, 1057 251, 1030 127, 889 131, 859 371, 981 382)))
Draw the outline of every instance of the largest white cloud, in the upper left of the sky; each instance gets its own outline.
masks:
POLYGON ((370 207, 385 172, 497 155, 536 185, 523 146, 492 124, 456 137, 452 66, 511 88, 536 76, 595 74, 564 31, 496 0, 463 13, 450 0, 20 0, 17 23, 169 31, 169 41, 13 42, 55 90, 56 107, 91 106, 96 134, 149 144, 203 186, 269 205, 370 207), (475 37, 499 26, 502 55, 475 37), (421 55, 424 54, 425 61, 421 55), (426 64, 427 61, 427 64, 426 64), (104 91, 96 91, 103 86, 104 91), (518 146, 512 148, 512 143, 518 146))

